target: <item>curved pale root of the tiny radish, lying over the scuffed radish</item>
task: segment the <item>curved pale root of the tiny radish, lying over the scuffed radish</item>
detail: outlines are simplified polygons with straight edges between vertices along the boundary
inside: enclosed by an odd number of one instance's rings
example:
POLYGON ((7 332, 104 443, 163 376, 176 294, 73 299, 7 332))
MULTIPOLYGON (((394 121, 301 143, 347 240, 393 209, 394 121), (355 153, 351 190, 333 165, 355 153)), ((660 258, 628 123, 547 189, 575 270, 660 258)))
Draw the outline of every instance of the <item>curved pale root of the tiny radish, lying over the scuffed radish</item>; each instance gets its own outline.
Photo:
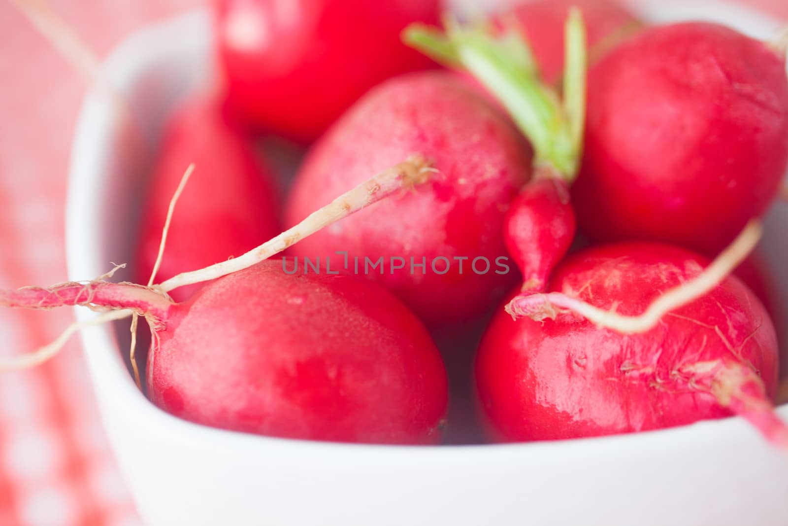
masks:
POLYGON ((605 311, 563 293, 515 297, 507 305, 506 311, 515 320, 528 317, 535 321, 556 319, 560 310, 574 311, 596 323, 597 326, 622 334, 646 332, 660 323, 663 315, 703 297, 719 285, 719 282, 727 278, 730 272, 753 252, 762 235, 762 222, 760 220, 750 222, 733 244, 730 244, 697 278, 668 290, 638 316, 625 316, 615 311, 605 311))

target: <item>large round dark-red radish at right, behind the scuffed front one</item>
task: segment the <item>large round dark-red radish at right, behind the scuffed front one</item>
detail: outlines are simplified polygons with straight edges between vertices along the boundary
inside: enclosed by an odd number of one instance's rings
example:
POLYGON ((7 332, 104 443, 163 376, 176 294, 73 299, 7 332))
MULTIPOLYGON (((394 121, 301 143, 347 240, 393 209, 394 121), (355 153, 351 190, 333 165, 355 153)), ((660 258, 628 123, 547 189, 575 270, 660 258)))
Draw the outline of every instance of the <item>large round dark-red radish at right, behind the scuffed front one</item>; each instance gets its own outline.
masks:
POLYGON ((599 240, 722 248, 788 167, 784 53, 715 24, 652 28, 589 72, 578 222, 599 240))

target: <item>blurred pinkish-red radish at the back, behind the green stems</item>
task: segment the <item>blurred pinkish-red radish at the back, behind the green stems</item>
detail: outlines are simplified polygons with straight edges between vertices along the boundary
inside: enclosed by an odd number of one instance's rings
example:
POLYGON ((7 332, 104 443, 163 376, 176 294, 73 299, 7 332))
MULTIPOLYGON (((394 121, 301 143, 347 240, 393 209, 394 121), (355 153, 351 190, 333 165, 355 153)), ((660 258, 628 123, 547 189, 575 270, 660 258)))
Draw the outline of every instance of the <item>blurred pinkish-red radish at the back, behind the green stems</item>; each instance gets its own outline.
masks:
POLYGON ((504 24, 512 18, 520 24, 541 76, 548 84, 555 84, 563 75, 563 27, 572 7, 582 12, 591 48, 600 46, 608 51, 608 40, 615 39, 615 43, 619 43, 641 27, 632 13, 612 0, 536 0, 521 2, 498 15, 496 18, 504 24))

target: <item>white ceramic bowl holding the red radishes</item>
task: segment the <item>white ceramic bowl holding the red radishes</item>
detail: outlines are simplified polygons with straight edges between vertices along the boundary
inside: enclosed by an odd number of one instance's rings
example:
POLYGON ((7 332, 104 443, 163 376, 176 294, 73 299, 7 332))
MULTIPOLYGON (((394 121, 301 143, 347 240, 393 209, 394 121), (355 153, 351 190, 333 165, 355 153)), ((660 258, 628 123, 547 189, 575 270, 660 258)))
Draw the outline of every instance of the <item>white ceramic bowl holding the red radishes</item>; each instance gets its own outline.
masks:
MULTIPOLYGON (((778 24, 743 7, 682 3, 652 20, 702 17, 762 37, 778 24)), ((206 13, 134 35, 108 62, 155 144, 167 111, 206 77, 206 13)), ((132 203, 148 159, 128 154, 107 99, 76 129, 67 218, 69 274, 128 261, 132 203), (131 166, 133 160, 135 166, 131 166)), ((788 296, 788 207, 771 215, 772 270, 788 296)), ((80 310, 80 319, 92 314, 80 310)), ((178 420, 136 390, 111 327, 84 331, 104 424, 151 526, 425 524, 788 524, 788 459, 738 418, 611 438, 509 446, 351 446, 218 431, 178 420)), ((125 352, 125 351, 124 351, 125 352)), ((788 419, 788 408, 781 414, 788 419)))

